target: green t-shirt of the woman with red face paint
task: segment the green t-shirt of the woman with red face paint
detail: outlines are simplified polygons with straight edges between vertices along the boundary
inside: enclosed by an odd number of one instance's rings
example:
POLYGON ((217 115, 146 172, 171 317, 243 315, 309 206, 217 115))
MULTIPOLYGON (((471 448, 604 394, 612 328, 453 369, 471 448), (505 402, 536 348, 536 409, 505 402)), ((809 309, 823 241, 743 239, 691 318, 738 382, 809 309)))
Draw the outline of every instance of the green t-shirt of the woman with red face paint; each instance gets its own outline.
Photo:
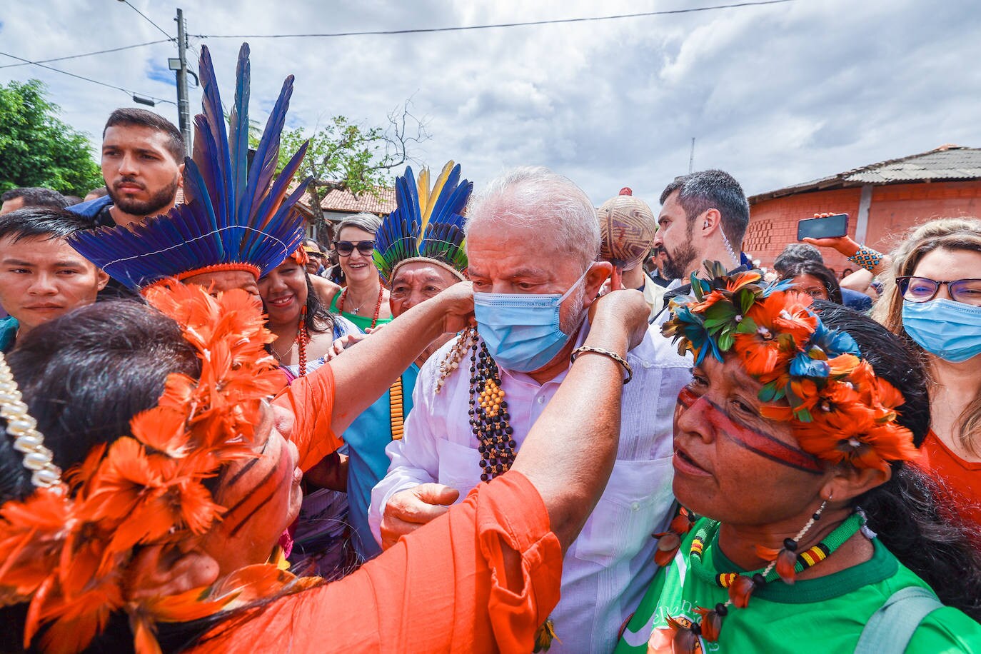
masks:
MULTIPOLYGON (((704 520, 704 519, 702 519, 704 520)), ((692 539, 699 522, 685 538, 674 561, 661 569, 631 618, 615 652, 670 652, 667 616, 698 622, 699 606, 712 608, 725 602, 728 591, 713 581, 699 579, 690 569, 692 539), (655 629, 661 647, 647 649, 655 629)), ((875 553, 848 570, 799 580, 794 585, 771 582, 753 592, 745 609, 729 607, 717 642, 700 640, 702 652, 793 652, 828 654, 852 652, 868 619, 897 590, 927 584, 878 539, 875 553)), ((716 572, 746 572, 729 561, 721 549, 706 543, 703 562, 716 572)), ((697 565, 697 564, 696 564, 697 565)), ((654 644, 654 643, 652 643, 654 644)), ((928 615, 909 641, 911 654, 981 652, 981 625, 960 611, 944 607, 928 615)))

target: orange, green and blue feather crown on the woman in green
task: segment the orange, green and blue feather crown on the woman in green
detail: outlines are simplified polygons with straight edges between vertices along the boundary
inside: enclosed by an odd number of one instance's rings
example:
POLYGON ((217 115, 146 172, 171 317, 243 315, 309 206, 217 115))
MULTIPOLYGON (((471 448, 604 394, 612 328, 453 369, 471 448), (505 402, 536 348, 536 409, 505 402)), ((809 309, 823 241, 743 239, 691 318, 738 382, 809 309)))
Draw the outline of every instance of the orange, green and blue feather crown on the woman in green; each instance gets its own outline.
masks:
POLYGON ((884 470, 916 456, 912 433, 896 422, 902 393, 875 376, 851 335, 821 323, 811 298, 790 280, 762 283, 759 271, 726 275, 704 262, 692 296, 671 300, 664 334, 696 365, 734 355, 763 387, 764 418, 792 422, 800 446, 833 464, 884 470))

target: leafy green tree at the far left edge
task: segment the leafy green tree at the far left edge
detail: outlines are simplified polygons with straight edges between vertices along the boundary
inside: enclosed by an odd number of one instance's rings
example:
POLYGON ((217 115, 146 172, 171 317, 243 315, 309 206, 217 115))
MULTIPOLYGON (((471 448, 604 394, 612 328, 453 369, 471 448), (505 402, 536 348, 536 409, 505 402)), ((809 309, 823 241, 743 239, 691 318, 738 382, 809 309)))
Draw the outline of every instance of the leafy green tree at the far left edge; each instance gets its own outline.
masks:
POLYGON ((101 186, 85 134, 58 118, 47 89, 37 79, 0 86, 0 191, 46 186, 84 196, 101 186))

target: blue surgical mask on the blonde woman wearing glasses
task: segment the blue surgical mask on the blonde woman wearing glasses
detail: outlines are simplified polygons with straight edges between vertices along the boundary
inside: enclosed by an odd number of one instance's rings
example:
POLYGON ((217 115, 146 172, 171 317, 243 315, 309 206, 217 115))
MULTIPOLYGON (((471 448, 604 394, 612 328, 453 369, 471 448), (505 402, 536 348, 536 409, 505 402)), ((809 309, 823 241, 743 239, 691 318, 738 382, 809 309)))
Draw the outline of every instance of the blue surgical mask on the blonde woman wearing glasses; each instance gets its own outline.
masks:
POLYGON ((920 347, 958 364, 981 354, 981 307, 938 297, 903 303, 903 328, 920 347))

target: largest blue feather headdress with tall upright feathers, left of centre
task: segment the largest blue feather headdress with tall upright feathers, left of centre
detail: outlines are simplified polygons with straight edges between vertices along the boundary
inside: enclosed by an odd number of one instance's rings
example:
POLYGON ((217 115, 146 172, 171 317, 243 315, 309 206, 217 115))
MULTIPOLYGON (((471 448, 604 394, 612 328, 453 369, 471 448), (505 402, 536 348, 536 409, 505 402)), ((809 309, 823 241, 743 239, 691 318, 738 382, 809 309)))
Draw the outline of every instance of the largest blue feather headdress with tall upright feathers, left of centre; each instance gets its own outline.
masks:
POLYGON ((194 118, 193 157, 184 160, 184 204, 133 227, 78 232, 72 245, 83 257, 133 290, 161 279, 222 270, 256 277, 283 263, 303 238, 295 210, 309 180, 286 195, 307 145, 276 177, 293 76, 269 115, 248 165, 249 49, 242 43, 235 71, 235 100, 226 130, 218 81, 207 46, 201 47, 202 113, 194 118))

